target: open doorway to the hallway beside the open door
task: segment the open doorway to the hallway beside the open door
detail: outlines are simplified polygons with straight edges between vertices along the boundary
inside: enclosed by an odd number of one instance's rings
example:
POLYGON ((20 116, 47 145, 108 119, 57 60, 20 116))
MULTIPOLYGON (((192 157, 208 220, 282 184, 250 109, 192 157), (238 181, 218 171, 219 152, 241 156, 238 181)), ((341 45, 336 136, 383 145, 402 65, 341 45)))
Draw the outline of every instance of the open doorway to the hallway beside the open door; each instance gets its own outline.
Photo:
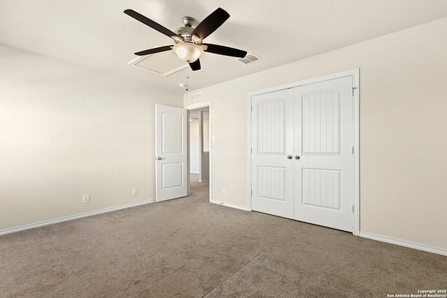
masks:
POLYGON ((188 109, 188 195, 211 200, 211 106, 188 109))

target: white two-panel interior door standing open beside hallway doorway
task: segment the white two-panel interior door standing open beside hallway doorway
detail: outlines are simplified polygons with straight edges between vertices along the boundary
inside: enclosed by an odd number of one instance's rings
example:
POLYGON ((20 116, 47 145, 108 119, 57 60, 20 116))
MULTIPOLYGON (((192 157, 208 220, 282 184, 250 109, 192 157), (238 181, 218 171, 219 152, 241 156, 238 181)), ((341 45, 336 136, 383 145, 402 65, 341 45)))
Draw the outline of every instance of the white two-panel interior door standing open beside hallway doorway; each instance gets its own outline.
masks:
POLYGON ((155 105, 156 202, 186 197, 187 111, 155 105))

